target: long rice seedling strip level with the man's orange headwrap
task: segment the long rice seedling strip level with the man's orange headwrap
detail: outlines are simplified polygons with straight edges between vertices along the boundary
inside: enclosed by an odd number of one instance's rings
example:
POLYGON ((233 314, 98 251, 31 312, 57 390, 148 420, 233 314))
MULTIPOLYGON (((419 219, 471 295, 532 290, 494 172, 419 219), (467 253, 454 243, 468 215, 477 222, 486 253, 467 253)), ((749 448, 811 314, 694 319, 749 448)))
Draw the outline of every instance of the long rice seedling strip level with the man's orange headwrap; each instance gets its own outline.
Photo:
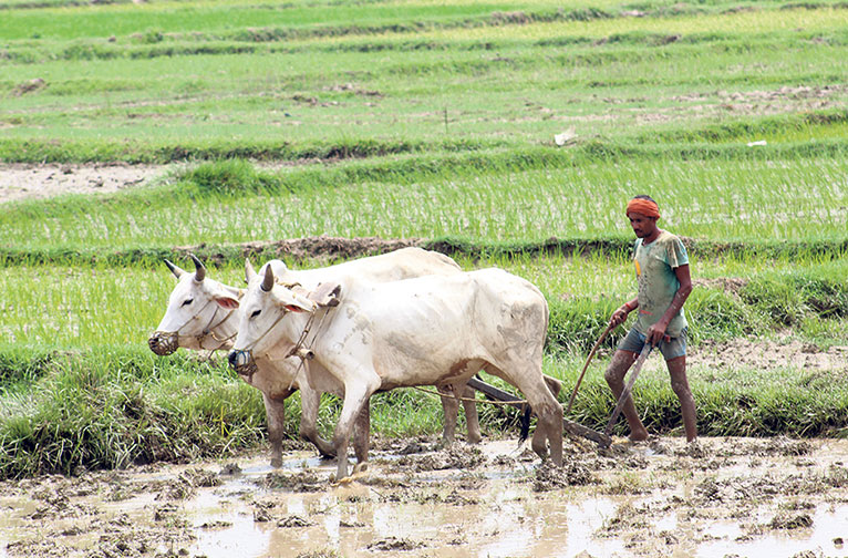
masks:
MULTIPOLYGON (((53 218, 34 220, 29 216, 50 206, 30 203, 21 211, 4 214, 0 223, 9 246, 40 249, 125 249, 154 241, 172 247, 321 234, 437 238, 461 231, 479 240, 591 239, 630 236, 623 205, 635 193, 650 192, 661 203, 663 226, 683 236, 839 241, 848 195, 840 182, 844 166, 840 161, 628 161, 497 175, 457 168, 451 178, 436 176, 411 185, 402 176, 397 185, 389 176, 350 184, 340 173, 338 178, 330 175, 337 183, 323 187, 314 176, 296 194, 245 196, 238 203, 229 195, 180 197, 172 188, 168 195, 153 194, 155 203, 146 200, 147 194, 115 196, 114 204, 69 202, 53 218), (799 193, 792 200, 779 194, 789 185, 799 193), (505 189, 509 197, 503 196, 505 189), (163 223, 168 223, 166 229, 163 223)), ((287 173, 279 179, 286 185, 289 176, 297 180, 303 175, 287 173)))

